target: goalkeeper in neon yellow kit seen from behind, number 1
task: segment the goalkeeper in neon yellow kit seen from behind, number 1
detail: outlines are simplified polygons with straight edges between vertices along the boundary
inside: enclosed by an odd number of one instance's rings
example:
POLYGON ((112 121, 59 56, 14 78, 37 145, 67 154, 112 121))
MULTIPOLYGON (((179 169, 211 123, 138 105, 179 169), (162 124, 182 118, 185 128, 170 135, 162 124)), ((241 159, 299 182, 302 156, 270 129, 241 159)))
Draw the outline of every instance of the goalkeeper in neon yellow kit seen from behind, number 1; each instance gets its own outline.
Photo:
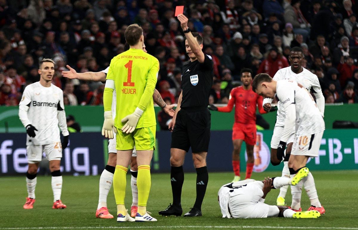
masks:
POLYGON ((155 113, 153 93, 156 85, 158 59, 143 52, 143 31, 137 24, 128 26, 125 39, 130 49, 111 60, 103 93, 105 121, 102 135, 116 135, 117 163, 113 176, 113 190, 117 204, 117 222, 156 221, 146 212, 150 191, 150 161, 155 146, 155 113), (112 119, 112 96, 116 90, 116 118, 112 119), (138 211, 135 219, 127 213, 124 199, 126 173, 134 145, 138 164, 138 211))

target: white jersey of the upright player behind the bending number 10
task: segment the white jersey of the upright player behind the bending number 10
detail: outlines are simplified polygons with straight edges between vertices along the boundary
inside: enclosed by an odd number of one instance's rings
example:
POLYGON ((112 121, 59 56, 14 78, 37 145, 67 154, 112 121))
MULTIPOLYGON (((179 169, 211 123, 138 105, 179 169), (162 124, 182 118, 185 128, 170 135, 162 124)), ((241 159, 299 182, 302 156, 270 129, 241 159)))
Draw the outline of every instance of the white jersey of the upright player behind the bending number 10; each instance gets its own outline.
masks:
MULTIPOLYGON (((308 69, 305 69, 303 68, 303 71, 299 74, 296 74, 294 72, 292 72, 291 70, 291 67, 286 67, 286 68, 282 68, 282 69, 279 69, 274 78, 274 80, 278 81, 278 80, 282 80, 282 79, 287 79, 287 80, 292 80, 294 82, 297 82, 301 85, 303 85, 303 87, 308 91, 310 92, 310 90, 312 89, 315 96, 317 97, 318 95, 322 95, 322 89, 321 89, 321 86, 319 84, 319 80, 318 80, 318 77, 317 75, 311 73, 308 69)), ((269 101, 268 98, 265 98, 263 100, 263 103, 262 104, 265 104, 265 103, 271 103, 271 101, 269 101)), ((281 101, 279 101, 277 103, 277 121, 276 121, 276 124, 275 126, 284 126, 284 123, 285 123, 285 112, 284 110, 281 108, 282 106, 282 103, 281 101)), ((324 101, 323 101, 323 105, 319 105, 320 107, 323 107, 323 108, 319 108, 320 109, 320 112, 321 112, 321 115, 323 116, 323 113, 324 113, 324 101)))

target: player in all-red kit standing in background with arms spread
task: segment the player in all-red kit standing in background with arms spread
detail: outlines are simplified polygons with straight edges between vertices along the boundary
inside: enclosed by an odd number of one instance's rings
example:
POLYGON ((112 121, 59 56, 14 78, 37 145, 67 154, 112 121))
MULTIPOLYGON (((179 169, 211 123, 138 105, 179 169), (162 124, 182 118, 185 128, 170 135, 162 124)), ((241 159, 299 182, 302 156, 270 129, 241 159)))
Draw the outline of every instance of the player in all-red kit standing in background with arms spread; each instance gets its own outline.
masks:
POLYGON ((235 123, 232 128, 232 167, 235 173, 232 182, 240 181, 240 150, 242 142, 246 143, 247 163, 246 178, 250 178, 254 165, 253 146, 256 144, 256 107, 263 114, 266 113, 262 108, 263 98, 252 91, 252 71, 243 68, 241 70, 242 86, 231 90, 229 102, 225 107, 210 105, 209 109, 219 112, 229 113, 235 105, 235 123))

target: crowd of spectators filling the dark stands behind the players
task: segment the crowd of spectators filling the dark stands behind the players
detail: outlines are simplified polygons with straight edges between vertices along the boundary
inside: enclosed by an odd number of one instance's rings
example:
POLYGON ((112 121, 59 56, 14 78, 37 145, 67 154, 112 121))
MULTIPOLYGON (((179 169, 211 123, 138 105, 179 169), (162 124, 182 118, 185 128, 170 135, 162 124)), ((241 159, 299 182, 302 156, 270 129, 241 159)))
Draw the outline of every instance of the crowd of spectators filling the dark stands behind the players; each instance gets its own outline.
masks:
POLYGON ((0 105, 16 106, 38 64, 52 58, 53 84, 67 105, 103 103, 104 85, 62 77, 98 72, 124 52, 124 31, 143 28, 146 50, 160 62, 157 89, 166 102, 180 94, 184 34, 174 16, 184 5, 191 31, 203 36, 214 63, 210 103, 227 103, 240 70, 272 77, 289 66, 291 47, 319 78, 326 103, 358 103, 357 0, 0 0, 0 105))

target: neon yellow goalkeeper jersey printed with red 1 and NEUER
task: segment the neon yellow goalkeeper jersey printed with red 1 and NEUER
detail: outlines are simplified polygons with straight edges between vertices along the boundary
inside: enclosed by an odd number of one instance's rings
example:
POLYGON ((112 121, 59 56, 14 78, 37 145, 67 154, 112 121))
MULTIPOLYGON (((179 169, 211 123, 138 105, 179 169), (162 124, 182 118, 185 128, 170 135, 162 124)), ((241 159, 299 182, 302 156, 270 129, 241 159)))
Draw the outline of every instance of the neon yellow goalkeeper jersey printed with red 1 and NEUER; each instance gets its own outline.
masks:
POLYGON ((133 113, 136 107, 144 111, 136 128, 156 125, 153 93, 158 71, 158 59, 141 49, 129 49, 111 60, 106 79, 115 82, 117 128, 124 126, 122 118, 133 113))

